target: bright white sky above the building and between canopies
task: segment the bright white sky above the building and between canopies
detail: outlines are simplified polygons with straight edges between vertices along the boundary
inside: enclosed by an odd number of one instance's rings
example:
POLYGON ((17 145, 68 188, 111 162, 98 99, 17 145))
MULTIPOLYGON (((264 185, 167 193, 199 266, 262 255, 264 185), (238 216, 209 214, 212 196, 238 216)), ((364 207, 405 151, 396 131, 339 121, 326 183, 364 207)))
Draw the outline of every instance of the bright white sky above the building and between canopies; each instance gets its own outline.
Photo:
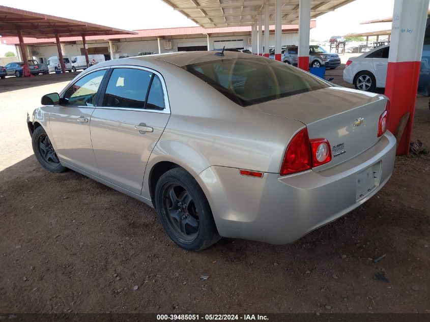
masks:
MULTIPOLYGON (((73 0, 54 3, 54 6, 41 6, 40 2, 34 0, 0 0, 0 5, 2 6, 126 30, 196 25, 161 0, 107 1, 94 2, 92 4, 89 4, 88 0, 73 0)), ((318 17, 317 27, 310 31, 310 38, 323 41, 329 39, 331 36, 391 29, 390 22, 365 25, 360 25, 360 22, 391 17, 393 14, 393 4, 394 0, 356 0, 333 12, 318 17)), ((0 55, 9 50, 13 51, 13 49, 13 46, 0 44, 0 55)))

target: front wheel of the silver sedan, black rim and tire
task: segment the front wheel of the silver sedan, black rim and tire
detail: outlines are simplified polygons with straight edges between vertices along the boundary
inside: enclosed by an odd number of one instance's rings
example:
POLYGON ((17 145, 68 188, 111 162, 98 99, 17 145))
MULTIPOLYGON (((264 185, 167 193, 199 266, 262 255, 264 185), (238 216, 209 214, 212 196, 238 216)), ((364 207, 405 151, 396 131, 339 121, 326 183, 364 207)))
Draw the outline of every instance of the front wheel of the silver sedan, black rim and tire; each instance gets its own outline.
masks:
POLYGON ((59 173, 67 170, 61 165, 45 129, 41 126, 32 134, 32 147, 37 161, 48 171, 59 173))

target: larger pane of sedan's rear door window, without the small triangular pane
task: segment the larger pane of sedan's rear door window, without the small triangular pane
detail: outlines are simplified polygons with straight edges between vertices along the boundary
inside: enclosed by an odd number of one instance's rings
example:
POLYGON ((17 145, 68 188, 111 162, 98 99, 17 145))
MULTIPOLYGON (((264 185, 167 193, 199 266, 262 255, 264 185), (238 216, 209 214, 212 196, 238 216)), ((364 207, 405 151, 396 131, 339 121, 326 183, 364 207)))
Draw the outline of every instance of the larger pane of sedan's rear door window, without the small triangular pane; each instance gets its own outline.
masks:
POLYGON ((114 69, 107 83, 103 106, 145 108, 153 73, 140 69, 114 69))

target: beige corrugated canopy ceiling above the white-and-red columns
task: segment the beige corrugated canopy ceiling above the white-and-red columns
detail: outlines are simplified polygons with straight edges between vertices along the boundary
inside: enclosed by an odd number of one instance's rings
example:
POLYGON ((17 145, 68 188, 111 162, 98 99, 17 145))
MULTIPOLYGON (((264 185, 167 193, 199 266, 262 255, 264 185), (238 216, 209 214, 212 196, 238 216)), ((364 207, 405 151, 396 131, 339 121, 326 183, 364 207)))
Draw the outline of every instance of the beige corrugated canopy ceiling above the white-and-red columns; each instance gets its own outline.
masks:
MULTIPOLYGON (((174 10, 180 11, 187 18, 205 28, 249 26, 257 15, 263 14, 268 5, 271 14, 269 23, 275 22, 274 0, 162 0, 174 10)), ((353 2, 354 0, 312 1, 310 18, 316 18, 327 12, 353 2)), ((282 24, 296 24, 299 21, 299 0, 282 2, 282 24)))

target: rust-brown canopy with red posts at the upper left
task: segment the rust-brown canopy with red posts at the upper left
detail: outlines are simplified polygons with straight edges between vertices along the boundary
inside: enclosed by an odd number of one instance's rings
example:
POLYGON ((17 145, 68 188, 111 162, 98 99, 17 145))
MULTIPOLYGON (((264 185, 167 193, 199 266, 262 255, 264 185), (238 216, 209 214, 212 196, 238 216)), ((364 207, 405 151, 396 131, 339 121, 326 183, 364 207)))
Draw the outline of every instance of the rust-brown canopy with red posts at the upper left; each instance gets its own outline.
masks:
MULTIPOLYGON (((28 73, 23 37, 55 38, 59 51, 61 69, 64 73, 65 66, 60 46, 60 37, 80 36, 85 44, 85 37, 87 36, 124 34, 133 35, 136 33, 94 23, 0 6, 0 35, 3 37, 9 36, 19 38, 21 57, 24 62, 24 76, 30 74, 28 73)), ((85 50, 85 57, 87 58, 88 66, 89 60, 87 50, 85 50)))

